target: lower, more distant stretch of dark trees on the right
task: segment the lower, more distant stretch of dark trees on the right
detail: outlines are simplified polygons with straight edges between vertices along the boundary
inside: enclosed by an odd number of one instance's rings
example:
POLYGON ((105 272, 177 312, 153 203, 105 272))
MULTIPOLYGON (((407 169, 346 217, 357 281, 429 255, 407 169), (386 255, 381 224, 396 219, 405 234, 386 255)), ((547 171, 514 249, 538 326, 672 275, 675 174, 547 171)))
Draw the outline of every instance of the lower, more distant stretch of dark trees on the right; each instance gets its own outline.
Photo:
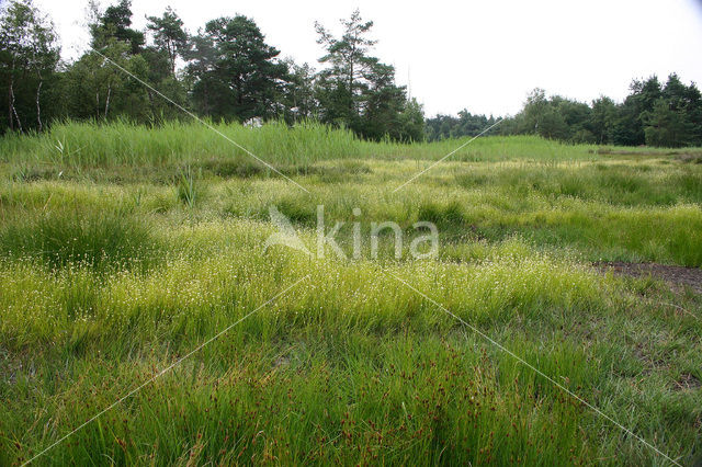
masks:
MULTIPOLYGON (((497 122, 494 116, 437 115, 427 119, 430 140, 475 136, 497 122)), ((570 143, 622 146, 702 146, 702 96, 694 83, 672 73, 665 84, 656 76, 634 80, 622 103, 600 96, 590 104, 531 92, 523 109, 505 118, 494 134, 535 134, 570 143)))

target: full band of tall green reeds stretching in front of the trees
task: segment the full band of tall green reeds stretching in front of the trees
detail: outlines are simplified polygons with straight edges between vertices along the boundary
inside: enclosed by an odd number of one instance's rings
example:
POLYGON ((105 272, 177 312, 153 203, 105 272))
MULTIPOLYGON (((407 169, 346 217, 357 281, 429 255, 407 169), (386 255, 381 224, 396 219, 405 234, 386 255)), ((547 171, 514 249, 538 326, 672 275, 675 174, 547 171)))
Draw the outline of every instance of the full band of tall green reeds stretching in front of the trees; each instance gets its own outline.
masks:
MULTIPOLYGON (((229 138, 267 162, 308 166, 320 160, 346 158, 438 159, 469 139, 431 144, 372 143, 360 140, 348 129, 333 129, 315 122, 293 127, 283 123, 268 123, 260 128, 236 123, 211 125, 216 132, 200 123, 181 122, 167 122, 156 127, 123 121, 102 125, 57 123, 39 135, 4 136, 0 139, 0 160, 89 167, 189 163, 216 158, 234 160, 242 166, 256 164, 246 151, 226 139, 229 138)), ((452 159, 557 160, 592 157, 591 150, 585 146, 574 149, 539 137, 520 136, 477 139, 457 151, 452 159)))

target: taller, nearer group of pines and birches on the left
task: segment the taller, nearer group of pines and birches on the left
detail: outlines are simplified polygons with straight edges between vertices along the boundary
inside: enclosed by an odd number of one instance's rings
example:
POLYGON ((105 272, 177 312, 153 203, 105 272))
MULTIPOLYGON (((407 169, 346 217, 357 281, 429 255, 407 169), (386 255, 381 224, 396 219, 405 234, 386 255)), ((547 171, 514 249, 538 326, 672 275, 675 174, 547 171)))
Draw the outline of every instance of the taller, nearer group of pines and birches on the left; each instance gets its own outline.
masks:
POLYGON ((395 83, 394 67, 372 55, 373 22, 358 11, 342 21, 339 36, 316 24, 325 50, 316 71, 281 58, 244 15, 217 18, 189 34, 170 8, 148 16, 145 31, 132 27, 129 0, 89 8, 91 48, 72 62, 61 61, 54 26, 31 0, 3 9, 0 130, 42 130, 56 118, 157 124, 183 117, 171 101, 215 121, 314 118, 369 139, 423 138, 421 105, 395 83))

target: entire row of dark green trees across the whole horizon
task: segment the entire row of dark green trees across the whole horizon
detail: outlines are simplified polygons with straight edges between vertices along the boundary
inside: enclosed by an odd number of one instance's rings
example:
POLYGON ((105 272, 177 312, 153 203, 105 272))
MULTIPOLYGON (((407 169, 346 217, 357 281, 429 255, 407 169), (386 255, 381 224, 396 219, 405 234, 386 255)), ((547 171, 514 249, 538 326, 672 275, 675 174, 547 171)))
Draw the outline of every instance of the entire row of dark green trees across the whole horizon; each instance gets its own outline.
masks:
MULTIPOLYGON (((422 105, 396 84, 395 68, 373 56, 373 22, 358 11, 341 21, 340 35, 315 24, 324 49, 319 70, 281 58, 244 15, 214 19, 191 34, 171 8, 148 16, 144 31, 132 26, 129 0, 104 10, 91 0, 89 11, 90 49, 66 62, 53 23, 32 0, 5 3, 0 11, 0 134, 41 132, 66 118, 157 125, 185 117, 178 106, 214 121, 315 119, 372 140, 475 136, 498 121, 467 110, 424 119, 422 105)), ((702 99, 694 83, 686 86, 675 73, 665 84, 656 77, 634 80, 622 103, 601 96, 588 104, 536 89, 517 115, 490 133, 702 146, 702 99)))

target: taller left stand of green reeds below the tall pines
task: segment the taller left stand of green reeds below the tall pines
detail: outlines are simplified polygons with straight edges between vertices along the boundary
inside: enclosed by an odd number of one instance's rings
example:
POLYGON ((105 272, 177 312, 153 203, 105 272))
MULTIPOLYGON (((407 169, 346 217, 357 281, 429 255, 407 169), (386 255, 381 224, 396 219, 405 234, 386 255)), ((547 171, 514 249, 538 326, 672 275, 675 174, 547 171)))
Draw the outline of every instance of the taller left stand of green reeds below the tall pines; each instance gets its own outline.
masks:
POLYGON ((4 161, 29 160, 65 166, 165 164, 223 158, 250 164, 252 158, 229 138, 267 161, 312 163, 329 158, 355 157, 359 140, 347 130, 317 123, 288 128, 270 123, 260 128, 239 124, 167 122, 145 127, 116 121, 55 124, 35 136, 9 135, 0 139, 4 161), (217 134, 219 132, 222 135, 217 134))

